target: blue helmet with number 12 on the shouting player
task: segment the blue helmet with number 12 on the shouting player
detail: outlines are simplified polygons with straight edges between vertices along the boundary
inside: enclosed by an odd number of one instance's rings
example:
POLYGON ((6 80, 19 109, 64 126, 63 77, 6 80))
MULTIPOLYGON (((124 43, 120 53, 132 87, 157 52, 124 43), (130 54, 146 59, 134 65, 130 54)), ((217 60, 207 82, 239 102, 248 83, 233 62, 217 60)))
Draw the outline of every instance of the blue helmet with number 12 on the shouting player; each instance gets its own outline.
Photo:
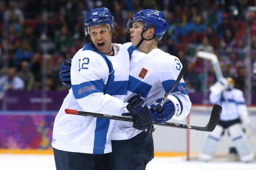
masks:
POLYGON ((114 16, 106 7, 91 9, 87 14, 86 19, 84 20, 85 35, 87 36, 90 34, 91 26, 102 24, 107 24, 109 30, 113 32, 114 23, 114 16))

